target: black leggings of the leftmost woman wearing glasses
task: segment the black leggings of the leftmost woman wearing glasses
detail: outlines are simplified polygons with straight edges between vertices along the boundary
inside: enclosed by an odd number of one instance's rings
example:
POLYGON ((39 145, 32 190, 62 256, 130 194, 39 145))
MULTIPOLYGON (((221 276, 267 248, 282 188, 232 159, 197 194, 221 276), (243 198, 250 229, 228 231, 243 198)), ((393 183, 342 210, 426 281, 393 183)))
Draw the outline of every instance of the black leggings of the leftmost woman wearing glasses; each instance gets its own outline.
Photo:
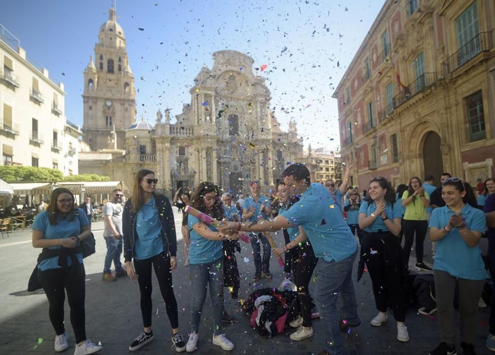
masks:
POLYGON ((83 264, 73 264, 70 267, 49 269, 37 272, 38 281, 48 298, 50 322, 57 335, 65 333, 64 302, 65 291, 70 307, 70 324, 74 330, 75 342, 86 340, 85 326, 85 276, 83 264))

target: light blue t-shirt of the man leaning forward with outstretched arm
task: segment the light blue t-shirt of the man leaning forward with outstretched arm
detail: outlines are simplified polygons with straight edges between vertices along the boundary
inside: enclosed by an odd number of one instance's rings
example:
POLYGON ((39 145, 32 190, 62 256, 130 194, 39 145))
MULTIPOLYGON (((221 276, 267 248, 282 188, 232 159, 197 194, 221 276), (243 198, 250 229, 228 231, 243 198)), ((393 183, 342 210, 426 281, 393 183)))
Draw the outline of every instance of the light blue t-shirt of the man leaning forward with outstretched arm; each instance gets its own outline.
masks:
POLYGON ((356 239, 322 184, 311 184, 282 216, 294 226, 302 227, 317 258, 339 262, 356 252, 356 239))

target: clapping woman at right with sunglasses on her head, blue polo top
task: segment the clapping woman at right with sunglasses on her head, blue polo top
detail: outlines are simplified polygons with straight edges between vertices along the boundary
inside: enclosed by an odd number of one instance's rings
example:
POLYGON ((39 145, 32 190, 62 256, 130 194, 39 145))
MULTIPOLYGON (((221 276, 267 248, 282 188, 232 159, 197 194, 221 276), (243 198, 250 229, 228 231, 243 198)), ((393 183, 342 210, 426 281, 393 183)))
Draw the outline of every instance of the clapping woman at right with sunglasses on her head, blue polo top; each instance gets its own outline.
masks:
POLYGON ((430 218, 430 239, 437 241, 433 276, 435 278, 440 345, 430 355, 455 354, 454 306, 459 288, 461 348, 463 354, 475 354, 478 301, 487 277, 478 246, 485 232, 483 211, 466 201, 466 187, 459 177, 442 184, 444 207, 435 208, 430 218))

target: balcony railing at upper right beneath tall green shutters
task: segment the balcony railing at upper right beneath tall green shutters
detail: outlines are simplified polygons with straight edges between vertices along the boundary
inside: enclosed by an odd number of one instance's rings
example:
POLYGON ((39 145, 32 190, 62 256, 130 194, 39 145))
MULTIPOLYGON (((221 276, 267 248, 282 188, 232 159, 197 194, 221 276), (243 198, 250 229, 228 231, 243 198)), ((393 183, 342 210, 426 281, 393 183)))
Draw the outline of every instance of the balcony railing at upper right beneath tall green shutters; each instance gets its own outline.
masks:
POLYGON ((452 54, 442 63, 443 75, 448 75, 460 68, 482 52, 493 48, 492 32, 480 32, 466 43, 461 49, 452 54))

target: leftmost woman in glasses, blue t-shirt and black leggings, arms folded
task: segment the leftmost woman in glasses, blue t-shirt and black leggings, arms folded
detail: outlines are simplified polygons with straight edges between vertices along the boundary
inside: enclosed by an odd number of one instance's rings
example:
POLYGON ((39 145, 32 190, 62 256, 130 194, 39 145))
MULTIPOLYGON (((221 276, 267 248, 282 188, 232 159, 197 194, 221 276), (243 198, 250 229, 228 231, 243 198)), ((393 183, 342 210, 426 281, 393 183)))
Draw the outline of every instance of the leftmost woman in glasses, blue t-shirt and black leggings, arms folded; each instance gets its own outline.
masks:
POLYGON ((64 327, 65 292, 70 307, 70 324, 75 335, 74 355, 102 349, 86 338, 85 278, 80 242, 91 235, 85 212, 74 210, 70 190, 55 189, 46 211, 36 215, 32 225, 32 246, 43 248, 38 257, 37 278, 48 298, 48 314, 55 329, 55 351, 69 347, 64 327))

